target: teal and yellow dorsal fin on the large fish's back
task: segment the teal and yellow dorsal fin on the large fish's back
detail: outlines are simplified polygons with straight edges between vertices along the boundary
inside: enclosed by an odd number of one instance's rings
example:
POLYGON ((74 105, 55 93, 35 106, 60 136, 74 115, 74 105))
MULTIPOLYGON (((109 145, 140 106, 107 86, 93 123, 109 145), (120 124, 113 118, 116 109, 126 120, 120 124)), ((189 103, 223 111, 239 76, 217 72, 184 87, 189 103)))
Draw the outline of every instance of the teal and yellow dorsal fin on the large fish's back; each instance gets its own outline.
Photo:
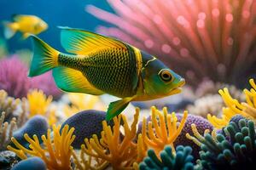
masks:
POLYGON ((103 48, 124 48, 124 42, 90 31, 61 28, 61 45, 69 53, 87 55, 103 48))

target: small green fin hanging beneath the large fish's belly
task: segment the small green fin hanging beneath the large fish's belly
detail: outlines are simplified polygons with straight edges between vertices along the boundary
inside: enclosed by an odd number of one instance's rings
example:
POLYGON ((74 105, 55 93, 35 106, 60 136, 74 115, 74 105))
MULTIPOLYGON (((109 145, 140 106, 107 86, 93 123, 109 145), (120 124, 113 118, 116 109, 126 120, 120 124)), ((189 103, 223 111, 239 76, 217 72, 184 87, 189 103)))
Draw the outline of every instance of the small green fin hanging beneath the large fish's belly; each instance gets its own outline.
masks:
POLYGON ((129 105, 132 99, 134 99, 134 97, 128 97, 111 102, 108 105, 106 120, 110 121, 114 116, 118 116, 122 111, 125 110, 126 106, 129 105))

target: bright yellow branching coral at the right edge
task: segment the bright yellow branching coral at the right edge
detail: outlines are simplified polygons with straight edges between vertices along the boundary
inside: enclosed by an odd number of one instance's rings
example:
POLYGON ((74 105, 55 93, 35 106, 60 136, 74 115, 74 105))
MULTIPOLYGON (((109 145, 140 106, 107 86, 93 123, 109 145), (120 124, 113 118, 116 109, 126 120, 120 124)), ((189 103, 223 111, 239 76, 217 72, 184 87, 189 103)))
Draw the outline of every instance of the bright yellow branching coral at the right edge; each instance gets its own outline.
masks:
POLYGON ((246 96, 246 103, 240 103, 237 99, 233 99, 230 96, 228 88, 218 91, 218 93, 224 99, 226 107, 223 108, 223 115, 221 118, 211 116, 210 114, 207 115, 207 119, 214 127, 220 129, 226 126, 230 122, 231 117, 235 116, 236 114, 240 114, 241 116, 245 116, 248 119, 256 121, 256 84, 253 79, 250 79, 249 83, 251 84, 252 88, 250 90, 243 90, 243 93, 246 96))

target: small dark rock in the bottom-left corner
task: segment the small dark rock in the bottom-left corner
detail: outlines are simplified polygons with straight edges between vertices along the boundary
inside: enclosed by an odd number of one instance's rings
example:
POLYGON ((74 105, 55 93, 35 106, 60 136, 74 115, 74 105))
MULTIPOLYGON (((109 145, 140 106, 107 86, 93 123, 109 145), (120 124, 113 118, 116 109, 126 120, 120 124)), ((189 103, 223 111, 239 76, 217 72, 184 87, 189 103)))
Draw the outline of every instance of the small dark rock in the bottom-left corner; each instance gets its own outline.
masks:
POLYGON ((16 162, 15 152, 4 150, 0 152, 0 169, 7 170, 16 162))

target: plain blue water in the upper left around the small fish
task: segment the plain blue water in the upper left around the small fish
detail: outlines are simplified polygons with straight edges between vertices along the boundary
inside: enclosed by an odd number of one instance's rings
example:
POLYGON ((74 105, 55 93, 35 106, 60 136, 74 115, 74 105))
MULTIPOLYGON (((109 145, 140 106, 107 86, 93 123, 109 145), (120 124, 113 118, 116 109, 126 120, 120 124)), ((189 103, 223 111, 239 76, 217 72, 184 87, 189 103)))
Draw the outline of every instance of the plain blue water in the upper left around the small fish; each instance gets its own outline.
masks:
MULTIPOLYGON (((57 26, 82 28, 89 31, 95 31, 98 25, 108 26, 107 23, 97 20, 84 10, 88 4, 113 12, 105 0, 0 0, 0 22, 11 20, 13 14, 37 15, 49 25, 48 30, 39 34, 38 37, 63 51, 60 43, 60 29, 57 26)), ((3 38, 2 23, 0 38, 3 38)), ((31 40, 28 38, 23 41, 18 34, 6 40, 6 43, 10 53, 15 53, 22 48, 32 49, 31 40)))

